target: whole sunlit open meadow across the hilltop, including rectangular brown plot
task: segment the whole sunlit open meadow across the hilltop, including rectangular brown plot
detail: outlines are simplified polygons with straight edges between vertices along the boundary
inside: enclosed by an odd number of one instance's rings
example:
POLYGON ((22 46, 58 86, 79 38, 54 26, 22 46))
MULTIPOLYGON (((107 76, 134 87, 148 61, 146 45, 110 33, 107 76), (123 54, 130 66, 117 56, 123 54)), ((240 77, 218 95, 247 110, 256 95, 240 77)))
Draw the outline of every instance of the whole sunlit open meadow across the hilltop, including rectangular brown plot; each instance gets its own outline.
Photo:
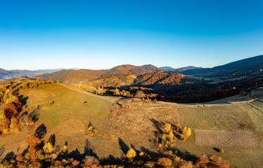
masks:
MULTIPOLYGON (((56 145, 63 146, 67 141, 69 151, 82 152, 88 140, 99 158, 122 157, 123 144, 154 153, 158 151, 153 145, 156 123, 171 123, 192 130, 187 141, 175 141, 186 160, 206 153, 229 160, 231 167, 262 166, 262 99, 250 98, 252 101, 248 102, 248 96, 238 96, 213 104, 174 104, 101 96, 59 83, 21 89, 19 93, 28 98, 27 109, 36 110, 39 120, 30 130, 1 135, 4 153, 23 151, 27 147, 26 137, 34 134, 41 123, 48 132, 45 140, 55 134, 56 145), (92 137, 89 122, 96 128, 92 137), (218 153, 214 148, 222 148, 226 153, 218 153)), ((257 93, 257 97, 262 97, 257 93)))

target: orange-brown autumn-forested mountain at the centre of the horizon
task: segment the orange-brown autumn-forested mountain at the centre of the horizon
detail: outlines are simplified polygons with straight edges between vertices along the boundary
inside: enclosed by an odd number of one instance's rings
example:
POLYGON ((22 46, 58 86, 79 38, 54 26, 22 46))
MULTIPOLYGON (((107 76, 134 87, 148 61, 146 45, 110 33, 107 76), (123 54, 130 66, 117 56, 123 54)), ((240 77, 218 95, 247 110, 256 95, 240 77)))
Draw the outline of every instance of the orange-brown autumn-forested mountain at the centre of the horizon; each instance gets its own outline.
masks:
POLYGON ((136 76, 156 71, 158 71, 158 68, 150 64, 143 66, 124 64, 105 70, 63 70, 37 76, 36 78, 59 80, 61 83, 93 82, 96 83, 96 85, 99 85, 99 83, 105 83, 105 86, 109 86, 108 83, 110 83, 110 86, 115 86, 120 85, 120 83, 132 83, 133 80, 131 79, 136 78, 136 76))

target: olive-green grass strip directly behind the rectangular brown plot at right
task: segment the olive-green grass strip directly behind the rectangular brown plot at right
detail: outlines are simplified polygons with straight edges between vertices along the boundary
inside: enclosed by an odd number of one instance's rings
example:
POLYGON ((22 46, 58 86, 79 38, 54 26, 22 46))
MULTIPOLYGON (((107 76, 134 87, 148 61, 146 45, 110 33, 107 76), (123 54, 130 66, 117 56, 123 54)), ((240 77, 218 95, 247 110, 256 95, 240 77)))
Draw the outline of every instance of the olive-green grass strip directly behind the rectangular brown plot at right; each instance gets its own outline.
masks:
POLYGON ((237 104, 182 106, 177 109, 181 125, 200 130, 253 129, 248 113, 237 104))

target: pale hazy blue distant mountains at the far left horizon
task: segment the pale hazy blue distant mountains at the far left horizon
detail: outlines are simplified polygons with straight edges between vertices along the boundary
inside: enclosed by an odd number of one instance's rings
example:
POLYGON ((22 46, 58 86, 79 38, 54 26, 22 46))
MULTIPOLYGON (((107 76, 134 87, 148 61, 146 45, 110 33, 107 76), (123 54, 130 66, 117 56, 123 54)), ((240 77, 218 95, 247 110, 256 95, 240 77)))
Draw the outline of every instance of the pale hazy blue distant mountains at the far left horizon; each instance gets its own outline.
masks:
POLYGON ((0 80, 1 79, 10 79, 10 78, 19 78, 20 76, 28 76, 28 77, 32 77, 32 76, 36 76, 36 75, 41 75, 44 73, 53 73, 56 71, 61 71, 62 69, 39 69, 39 70, 35 70, 35 71, 30 71, 30 70, 10 70, 7 71, 5 69, 1 69, 0 68, 0 80))

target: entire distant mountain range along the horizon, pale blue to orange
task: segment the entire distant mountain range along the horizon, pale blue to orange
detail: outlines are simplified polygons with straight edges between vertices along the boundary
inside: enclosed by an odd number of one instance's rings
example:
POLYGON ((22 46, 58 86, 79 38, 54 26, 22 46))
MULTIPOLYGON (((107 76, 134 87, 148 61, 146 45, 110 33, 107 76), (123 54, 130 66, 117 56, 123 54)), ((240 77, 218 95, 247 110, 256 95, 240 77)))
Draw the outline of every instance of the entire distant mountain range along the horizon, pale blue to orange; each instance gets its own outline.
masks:
MULTIPOLYGON (((201 76, 212 78, 238 78, 241 76, 250 76, 252 73, 262 71, 263 69, 263 55, 256 57, 250 57, 247 59, 241 59, 236 62, 224 64, 221 66, 214 66, 213 68, 201 68, 196 66, 186 66, 178 69, 174 69, 169 66, 156 67, 153 65, 134 66, 130 64, 124 64, 115 66, 112 69, 103 70, 91 70, 91 69, 44 69, 44 70, 11 70, 6 71, 0 69, 0 79, 17 78, 20 76, 37 76, 37 78, 46 80, 59 80, 62 83, 83 83, 93 81, 96 85, 102 85, 105 83, 116 84, 118 80, 120 85, 130 85, 134 82, 137 76, 144 75, 146 73, 156 73, 158 71, 164 71, 165 73, 170 71, 176 71, 186 76, 201 76), (115 81, 114 81, 115 80, 115 81)), ((153 74, 155 77, 158 75, 153 74)), ((160 73, 159 73, 160 75, 160 73)), ((169 76, 169 74, 162 74, 161 76, 169 76)), ((152 76, 153 77, 153 76, 152 76)), ((152 78, 151 77, 151 78, 152 78)), ((142 78, 142 76, 140 77, 142 78)), ((145 76, 143 78, 146 78, 145 76)), ((150 77, 149 77, 150 78, 150 77)), ((159 78, 159 80, 163 80, 159 78)), ((174 80, 169 80, 174 81, 174 80)), ((143 82, 143 81, 141 81, 143 82)), ((140 82, 140 83, 141 83, 140 82)), ((138 83, 138 80, 136 80, 138 83)), ((105 84, 108 86, 109 84, 105 84)))

